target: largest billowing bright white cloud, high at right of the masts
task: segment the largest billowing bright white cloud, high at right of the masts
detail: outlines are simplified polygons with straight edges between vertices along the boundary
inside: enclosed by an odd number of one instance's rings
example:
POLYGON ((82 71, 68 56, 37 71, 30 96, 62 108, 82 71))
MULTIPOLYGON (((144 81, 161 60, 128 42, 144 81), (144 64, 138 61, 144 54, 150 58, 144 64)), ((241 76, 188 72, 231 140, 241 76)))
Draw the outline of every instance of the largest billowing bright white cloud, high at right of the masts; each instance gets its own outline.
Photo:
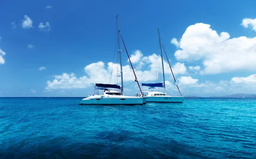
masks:
POLYGON ((256 67, 256 37, 230 39, 227 32, 218 34, 209 24, 196 23, 186 29, 178 44, 176 59, 202 61, 201 74, 249 71, 256 67))

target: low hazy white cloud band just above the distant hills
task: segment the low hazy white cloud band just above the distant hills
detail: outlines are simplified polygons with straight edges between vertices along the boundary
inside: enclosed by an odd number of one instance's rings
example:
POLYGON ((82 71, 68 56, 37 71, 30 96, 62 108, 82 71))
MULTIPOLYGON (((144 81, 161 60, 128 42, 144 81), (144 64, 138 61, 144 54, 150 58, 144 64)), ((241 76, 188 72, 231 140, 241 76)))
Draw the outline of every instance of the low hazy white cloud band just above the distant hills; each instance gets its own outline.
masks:
MULTIPOLYGON (((178 85, 181 93, 186 95, 216 96, 230 95, 238 93, 256 94, 256 74, 248 77, 233 77, 230 80, 220 80, 218 82, 204 81, 192 77, 178 78, 178 85)), ((175 86, 171 88, 176 90, 175 86)))

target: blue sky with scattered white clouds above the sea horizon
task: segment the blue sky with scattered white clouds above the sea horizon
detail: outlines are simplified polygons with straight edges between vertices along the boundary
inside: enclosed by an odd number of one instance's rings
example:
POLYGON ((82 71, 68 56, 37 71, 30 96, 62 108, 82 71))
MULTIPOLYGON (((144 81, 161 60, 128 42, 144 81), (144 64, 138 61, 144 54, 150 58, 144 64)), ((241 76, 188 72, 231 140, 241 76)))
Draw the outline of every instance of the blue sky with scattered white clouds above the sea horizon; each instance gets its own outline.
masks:
MULTIPOLYGON (((184 96, 256 93, 255 5, 253 0, 2 0, 0 97, 93 94, 93 82, 109 82, 108 62, 118 62, 113 61, 116 14, 139 82, 155 82, 160 28, 184 96)), ((134 77, 128 78, 125 52, 122 57, 127 85, 134 77)), ((177 94, 165 70, 167 92, 177 94)), ((134 94, 135 83, 125 91, 134 94)))

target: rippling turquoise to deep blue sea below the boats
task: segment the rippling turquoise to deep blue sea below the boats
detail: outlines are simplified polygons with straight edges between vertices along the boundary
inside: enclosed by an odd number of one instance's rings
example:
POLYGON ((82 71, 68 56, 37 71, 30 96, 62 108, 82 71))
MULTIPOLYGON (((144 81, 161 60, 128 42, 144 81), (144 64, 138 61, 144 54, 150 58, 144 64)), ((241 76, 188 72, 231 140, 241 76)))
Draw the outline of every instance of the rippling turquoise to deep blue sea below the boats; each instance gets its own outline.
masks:
POLYGON ((256 99, 0 98, 0 158, 256 158, 256 99))

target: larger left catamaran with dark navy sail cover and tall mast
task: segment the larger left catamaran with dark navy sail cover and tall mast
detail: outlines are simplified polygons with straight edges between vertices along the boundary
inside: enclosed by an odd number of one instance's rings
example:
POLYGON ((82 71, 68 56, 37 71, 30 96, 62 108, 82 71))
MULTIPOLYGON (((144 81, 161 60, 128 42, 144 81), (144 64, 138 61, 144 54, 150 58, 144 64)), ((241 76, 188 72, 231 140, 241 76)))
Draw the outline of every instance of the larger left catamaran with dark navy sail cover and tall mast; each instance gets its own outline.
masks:
MULTIPOLYGON (((146 103, 146 98, 145 97, 133 97, 133 96, 124 96, 123 95, 123 72, 122 72, 122 58, 121 58, 121 49, 120 49, 120 40, 119 40, 119 35, 122 34, 119 30, 119 24, 118 24, 118 15, 116 15, 116 22, 117 22, 117 34, 118 34, 118 45, 119 45, 119 57, 120 57, 120 67, 121 67, 121 83, 122 85, 113 85, 113 84, 102 84, 102 83, 96 83, 94 85, 94 94, 95 95, 88 95, 86 98, 81 99, 79 102, 79 105, 143 105, 146 103), (113 91, 110 89, 115 89, 115 90, 121 90, 119 91, 113 91), (99 90, 104 90, 103 95, 99 95, 99 90)), ((125 46, 124 40, 122 38, 122 42, 125 46)), ((128 51, 125 47, 125 51, 128 55, 128 51)), ((130 57, 128 55, 128 58, 130 60, 130 57)), ((131 60, 130 60, 131 63, 131 60)), ((131 67, 133 69, 133 66, 131 64, 131 67)), ((133 69, 134 71, 134 69, 133 69)), ((139 82, 137 80, 136 74, 134 72, 135 76, 135 81, 139 85, 139 82)), ((140 88, 140 85, 139 85, 140 88)), ((141 91, 141 89, 140 89, 141 91)), ((142 93, 142 91, 141 91, 142 93)))

